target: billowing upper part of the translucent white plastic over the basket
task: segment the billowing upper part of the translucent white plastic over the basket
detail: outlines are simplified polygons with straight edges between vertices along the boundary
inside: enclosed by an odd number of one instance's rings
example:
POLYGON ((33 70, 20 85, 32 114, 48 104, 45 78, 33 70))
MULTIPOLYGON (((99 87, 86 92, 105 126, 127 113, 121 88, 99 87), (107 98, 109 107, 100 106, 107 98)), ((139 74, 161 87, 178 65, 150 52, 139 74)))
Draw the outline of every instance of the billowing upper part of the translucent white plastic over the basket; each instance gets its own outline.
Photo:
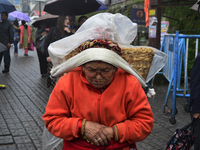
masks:
POLYGON ((92 39, 107 39, 118 44, 130 44, 137 35, 137 24, 122 14, 99 13, 88 18, 77 32, 51 43, 49 55, 54 67, 82 43, 92 39))

